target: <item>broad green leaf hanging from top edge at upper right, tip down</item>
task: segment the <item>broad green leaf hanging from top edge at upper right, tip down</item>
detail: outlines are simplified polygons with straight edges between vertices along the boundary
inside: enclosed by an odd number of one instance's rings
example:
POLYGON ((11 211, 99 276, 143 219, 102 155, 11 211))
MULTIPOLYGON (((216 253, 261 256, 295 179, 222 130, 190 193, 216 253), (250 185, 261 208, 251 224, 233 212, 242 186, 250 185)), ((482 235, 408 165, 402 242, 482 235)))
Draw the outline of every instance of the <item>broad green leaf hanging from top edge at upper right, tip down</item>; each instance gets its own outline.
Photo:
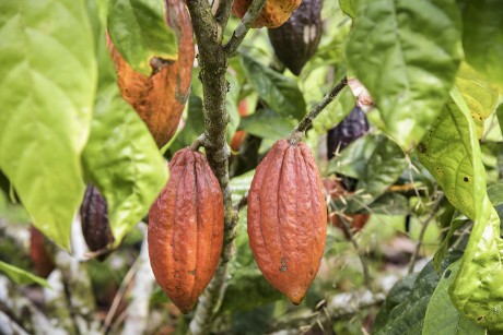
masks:
POLYGON ((442 111, 461 59, 455 0, 359 1, 346 57, 405 149, 442 111))

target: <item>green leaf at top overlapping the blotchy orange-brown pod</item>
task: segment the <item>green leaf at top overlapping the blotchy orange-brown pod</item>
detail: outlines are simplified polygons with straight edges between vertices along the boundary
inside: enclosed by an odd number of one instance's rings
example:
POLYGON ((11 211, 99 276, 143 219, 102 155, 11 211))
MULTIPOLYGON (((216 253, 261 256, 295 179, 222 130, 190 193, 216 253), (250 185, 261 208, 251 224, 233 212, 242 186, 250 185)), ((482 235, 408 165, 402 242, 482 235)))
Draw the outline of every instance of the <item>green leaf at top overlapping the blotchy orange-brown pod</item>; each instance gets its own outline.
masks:
POLYGON ((176 60, 178 44, 166 24, 162 0, 110 0, 108 34, 122 58, 138 72, 152 73, 152 58, 176 60))

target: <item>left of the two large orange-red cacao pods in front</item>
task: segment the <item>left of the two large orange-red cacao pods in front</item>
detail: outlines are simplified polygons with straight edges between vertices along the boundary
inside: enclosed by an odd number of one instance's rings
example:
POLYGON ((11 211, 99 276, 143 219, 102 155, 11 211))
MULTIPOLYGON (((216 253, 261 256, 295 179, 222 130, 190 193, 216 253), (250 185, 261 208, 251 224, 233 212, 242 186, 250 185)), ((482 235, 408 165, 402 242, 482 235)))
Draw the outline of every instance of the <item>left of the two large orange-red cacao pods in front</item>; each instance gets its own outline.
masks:
POLYGON ((204 157, 180 149, 149 212, 149 254, 159 285, 188 313, 213 277, 223 242, 223 196, 204 157))

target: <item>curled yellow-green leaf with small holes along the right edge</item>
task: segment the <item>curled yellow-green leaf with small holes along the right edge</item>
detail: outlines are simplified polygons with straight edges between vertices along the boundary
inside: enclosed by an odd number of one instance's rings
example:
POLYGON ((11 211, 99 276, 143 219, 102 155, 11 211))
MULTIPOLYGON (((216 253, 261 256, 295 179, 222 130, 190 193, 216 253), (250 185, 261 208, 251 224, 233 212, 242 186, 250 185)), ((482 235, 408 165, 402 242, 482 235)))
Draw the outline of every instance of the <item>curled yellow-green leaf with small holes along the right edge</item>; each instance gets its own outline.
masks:
POLYGON ((500 219, 486 191, 477 129, 461 94, 452 100, 418 146, 421 163, 443 188, 449 202, 473 228, 454 283, 454 306, 490 330, 503 330, 503 267, 500 219))

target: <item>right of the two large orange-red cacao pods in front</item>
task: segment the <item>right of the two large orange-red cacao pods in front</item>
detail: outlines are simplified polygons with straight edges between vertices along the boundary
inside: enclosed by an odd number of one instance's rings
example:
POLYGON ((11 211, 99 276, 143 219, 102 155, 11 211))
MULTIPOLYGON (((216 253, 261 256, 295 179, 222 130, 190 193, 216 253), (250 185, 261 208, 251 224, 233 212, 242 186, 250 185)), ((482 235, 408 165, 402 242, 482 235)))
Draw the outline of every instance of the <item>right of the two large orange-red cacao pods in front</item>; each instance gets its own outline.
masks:
POLYGON ((327 234, 321 177, 304 143, 278 141, 248 193, 249 246, 266 279, 299 304, 316 277, 327 234))

